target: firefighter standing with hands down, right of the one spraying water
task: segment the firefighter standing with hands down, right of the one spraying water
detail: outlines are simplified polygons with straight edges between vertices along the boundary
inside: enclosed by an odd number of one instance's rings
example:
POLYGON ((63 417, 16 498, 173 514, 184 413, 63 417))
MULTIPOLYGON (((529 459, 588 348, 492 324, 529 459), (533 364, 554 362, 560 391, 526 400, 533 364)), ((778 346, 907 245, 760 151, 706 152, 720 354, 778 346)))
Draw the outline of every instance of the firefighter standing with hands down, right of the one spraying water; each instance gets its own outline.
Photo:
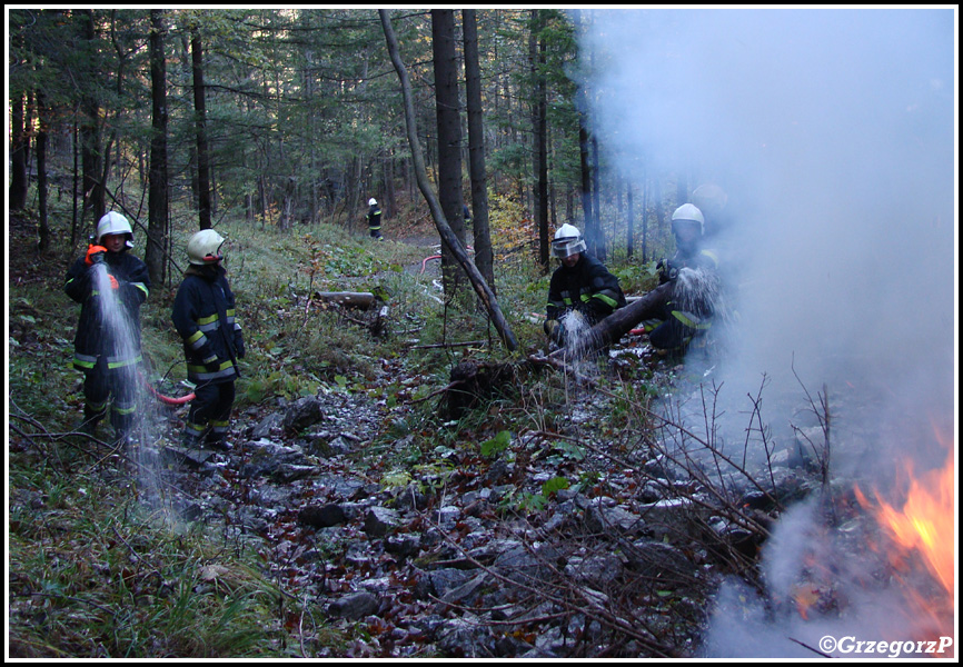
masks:
POLYGON ((190 266, 173 300, 171 319, 183 339, 187 378, 196 385, 183 430, 183 446, 189 448, 200 447, 207 431, 207 445, 228 449, 237 361, 245 357, 235 296, 221 266, 224 242, 212 229, 191 237, 187 245, 190 266))

